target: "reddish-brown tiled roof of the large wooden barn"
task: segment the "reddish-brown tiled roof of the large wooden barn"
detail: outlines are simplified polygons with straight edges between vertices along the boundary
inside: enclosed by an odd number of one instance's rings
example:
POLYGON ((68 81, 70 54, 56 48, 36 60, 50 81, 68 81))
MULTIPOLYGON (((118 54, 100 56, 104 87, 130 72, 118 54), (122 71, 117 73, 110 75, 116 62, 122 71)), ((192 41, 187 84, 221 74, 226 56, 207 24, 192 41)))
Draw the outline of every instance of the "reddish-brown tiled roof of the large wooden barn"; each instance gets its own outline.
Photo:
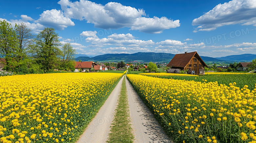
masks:
MULTIPOLYGON (((189 63, 189 61, 195 56, 195 54, 198 55, 197 52, 176 54, 172 58, 171 62, 168 63, 166 66, 167 67, 185 67, 189 63)), ((201 57, 199 55, 198 55, 198 57, 201 59, 201 57)), ((203 66, 207 66, 204 62, 203 62, 203 64, 204 64, 203 66)))

